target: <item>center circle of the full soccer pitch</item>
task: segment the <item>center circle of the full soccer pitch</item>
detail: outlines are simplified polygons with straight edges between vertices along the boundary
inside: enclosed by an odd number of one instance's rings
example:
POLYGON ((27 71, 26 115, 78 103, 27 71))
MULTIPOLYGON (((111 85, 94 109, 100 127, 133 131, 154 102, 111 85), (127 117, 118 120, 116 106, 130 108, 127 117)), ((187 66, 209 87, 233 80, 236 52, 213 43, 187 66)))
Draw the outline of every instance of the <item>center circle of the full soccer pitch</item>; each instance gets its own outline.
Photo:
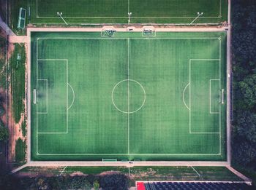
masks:
POLYGON ((111 97, 113 106, 118 111, 132 114, 144 106, 146 92, 140 82, 124 79, 113 87, 111 97))

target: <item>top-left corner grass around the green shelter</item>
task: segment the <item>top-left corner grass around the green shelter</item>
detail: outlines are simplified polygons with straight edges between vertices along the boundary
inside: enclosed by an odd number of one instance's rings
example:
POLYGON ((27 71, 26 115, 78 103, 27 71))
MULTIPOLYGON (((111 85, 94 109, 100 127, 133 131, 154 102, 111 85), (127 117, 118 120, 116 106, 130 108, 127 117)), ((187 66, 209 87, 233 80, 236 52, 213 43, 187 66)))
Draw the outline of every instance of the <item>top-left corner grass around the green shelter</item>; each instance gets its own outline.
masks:
MULTIPOLYGON (((9 1, 9 6, 10 6, 10 23, 9 26, 12 29, 14 33, 17 35, 25 35, 26 34, 26 29, 21 30, 18 29, 18 17, 19 17, 19 10, 20 7, 23 7, 26 9, 28 12, 28 0, 10 0, 9 1)), ((28 23, 28 14, 26 13, 26 24, 28 23)))

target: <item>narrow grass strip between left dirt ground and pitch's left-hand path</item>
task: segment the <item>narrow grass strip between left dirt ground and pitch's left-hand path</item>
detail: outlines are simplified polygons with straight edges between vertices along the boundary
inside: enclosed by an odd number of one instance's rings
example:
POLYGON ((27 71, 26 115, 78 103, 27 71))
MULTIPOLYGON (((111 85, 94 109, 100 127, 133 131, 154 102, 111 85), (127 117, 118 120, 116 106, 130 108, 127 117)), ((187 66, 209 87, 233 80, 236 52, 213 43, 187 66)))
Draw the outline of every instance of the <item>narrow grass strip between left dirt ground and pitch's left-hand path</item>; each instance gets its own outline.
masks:
POLYGON ((26 51, 24 44, 15 44, 15 50, 10 58, 10 74, 12 87, 12 111, 16 123, 20 121, 20 114, 24 112, 25 63, 26 51), (17 63, 18 53, 21 55, 21 60, 17 63))

